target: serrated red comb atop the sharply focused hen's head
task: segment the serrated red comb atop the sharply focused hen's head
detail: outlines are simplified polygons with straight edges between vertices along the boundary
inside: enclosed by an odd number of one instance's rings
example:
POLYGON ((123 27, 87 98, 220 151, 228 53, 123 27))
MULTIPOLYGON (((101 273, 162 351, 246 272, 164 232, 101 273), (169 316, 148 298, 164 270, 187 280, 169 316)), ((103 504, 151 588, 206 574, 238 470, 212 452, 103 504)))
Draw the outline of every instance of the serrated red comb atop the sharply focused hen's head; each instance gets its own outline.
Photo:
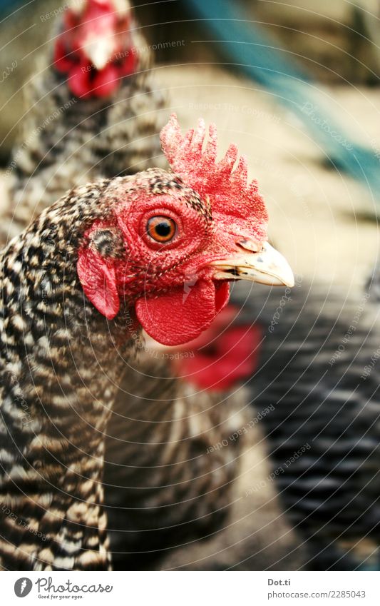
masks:
POLYGON ((229 224, 239 226, 236 219, 245 220, 246 236, 250 231, 259 240, 267 238, 268 214, 265 203, 257 191, 257 181, 247 182, 247 159, 241 156, 237 161, 237 146, 233 143, 219 162, 217 156, 217 130, 210 124, 209 141, 205 141, 205 122, 200 119, 197 129, 183 136, 177 116, 173 113, 160 133, 161 146, 172 170, 192 187, 200 196, 210 196, 213 215, 228 216, 229 224))

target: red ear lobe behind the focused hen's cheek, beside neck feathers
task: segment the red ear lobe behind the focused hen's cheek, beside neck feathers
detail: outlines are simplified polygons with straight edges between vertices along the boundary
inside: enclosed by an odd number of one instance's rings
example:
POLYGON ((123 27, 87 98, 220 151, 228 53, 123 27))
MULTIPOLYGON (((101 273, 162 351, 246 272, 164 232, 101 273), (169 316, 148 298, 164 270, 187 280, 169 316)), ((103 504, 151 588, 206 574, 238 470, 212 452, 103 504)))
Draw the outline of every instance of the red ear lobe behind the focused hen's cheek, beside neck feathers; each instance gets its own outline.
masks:
POLYGON ((77 271, 83 291, 93 306, 112 320, 120 309, 115 268, 91 249, 78 255, 77 271))

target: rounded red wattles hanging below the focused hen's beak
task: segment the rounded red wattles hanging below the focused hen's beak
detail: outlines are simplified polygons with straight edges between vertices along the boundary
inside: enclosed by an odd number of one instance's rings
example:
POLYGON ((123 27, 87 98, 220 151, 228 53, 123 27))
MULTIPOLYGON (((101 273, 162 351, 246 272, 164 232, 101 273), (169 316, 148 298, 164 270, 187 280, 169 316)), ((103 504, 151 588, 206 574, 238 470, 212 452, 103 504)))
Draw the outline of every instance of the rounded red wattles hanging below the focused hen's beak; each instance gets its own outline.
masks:
POLYGON ((227 283, 199 280, 158 298, 140 298, 135 304, 138 321, 163 345, 181 345, 196 338, 227 304, 227 283))

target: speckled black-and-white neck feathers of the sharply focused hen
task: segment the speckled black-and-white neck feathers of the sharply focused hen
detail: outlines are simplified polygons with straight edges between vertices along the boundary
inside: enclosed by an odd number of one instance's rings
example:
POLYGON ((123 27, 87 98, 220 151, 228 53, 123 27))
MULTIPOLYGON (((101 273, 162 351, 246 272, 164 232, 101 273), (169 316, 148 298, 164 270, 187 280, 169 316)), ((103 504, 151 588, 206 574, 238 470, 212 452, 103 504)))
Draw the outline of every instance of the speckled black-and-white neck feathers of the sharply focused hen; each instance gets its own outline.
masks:
POLYGON ((108 323, 76 276, 80 233, 105 212, 107 185, 54 205, 1 257, 0 563, 8 569, 108 566, 104 434, 132 346, 122 320, 108 323))

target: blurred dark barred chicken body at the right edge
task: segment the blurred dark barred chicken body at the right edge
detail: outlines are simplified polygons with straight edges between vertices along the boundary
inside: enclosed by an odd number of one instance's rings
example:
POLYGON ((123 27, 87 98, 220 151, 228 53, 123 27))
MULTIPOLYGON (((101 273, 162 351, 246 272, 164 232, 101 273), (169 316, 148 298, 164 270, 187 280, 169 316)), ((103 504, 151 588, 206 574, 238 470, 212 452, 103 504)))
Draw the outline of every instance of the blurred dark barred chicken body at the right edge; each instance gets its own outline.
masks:
MULTIPOLYGON (((242 285, 240 285, 242 286, 242 285)), ((309 567, 353 569, 377 549, 379 305, 313 284, 267 293, 236 288, 237 323, 255 324, 252 403, 263 419, 284 510, 302 530, 309 567), (301 452, 301 450, 302 452, 301 452)))

